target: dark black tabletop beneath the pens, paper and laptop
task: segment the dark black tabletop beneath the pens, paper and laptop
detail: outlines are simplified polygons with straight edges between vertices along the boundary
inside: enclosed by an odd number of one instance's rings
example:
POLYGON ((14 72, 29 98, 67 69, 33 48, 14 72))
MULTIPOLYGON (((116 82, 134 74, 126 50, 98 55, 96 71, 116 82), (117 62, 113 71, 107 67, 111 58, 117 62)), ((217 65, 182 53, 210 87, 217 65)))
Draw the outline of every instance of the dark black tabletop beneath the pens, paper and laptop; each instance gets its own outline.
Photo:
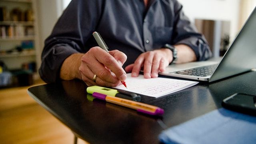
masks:
POLYGON ((231 94, 256 94, 256 72, 249 72, 211 84, 198 84, 161 98, 142 96, 141 102, 159 106, 158 118, 94 99, 80 80, 34 86, 28 89, 41 106, 90 143, 159 143, 165 128, 222 107, 231 94))

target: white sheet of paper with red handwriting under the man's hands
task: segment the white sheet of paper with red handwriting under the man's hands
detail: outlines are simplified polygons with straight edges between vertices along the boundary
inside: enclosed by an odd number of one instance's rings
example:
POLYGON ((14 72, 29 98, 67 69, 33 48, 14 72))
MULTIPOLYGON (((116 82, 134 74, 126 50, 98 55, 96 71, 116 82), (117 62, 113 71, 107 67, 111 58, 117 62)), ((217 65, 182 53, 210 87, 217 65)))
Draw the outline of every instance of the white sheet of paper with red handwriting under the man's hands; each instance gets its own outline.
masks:
POLYGON ((132 77, 130 73, 127 74, 125 81, 127 88, 123 85, 114 88, 155 98, 178 92, 179 90, 184 90, 185 88, 198 84, 198 82, 194 81, 176 80, 172 78, 144 78, 141 74, 138 77, 132 77))

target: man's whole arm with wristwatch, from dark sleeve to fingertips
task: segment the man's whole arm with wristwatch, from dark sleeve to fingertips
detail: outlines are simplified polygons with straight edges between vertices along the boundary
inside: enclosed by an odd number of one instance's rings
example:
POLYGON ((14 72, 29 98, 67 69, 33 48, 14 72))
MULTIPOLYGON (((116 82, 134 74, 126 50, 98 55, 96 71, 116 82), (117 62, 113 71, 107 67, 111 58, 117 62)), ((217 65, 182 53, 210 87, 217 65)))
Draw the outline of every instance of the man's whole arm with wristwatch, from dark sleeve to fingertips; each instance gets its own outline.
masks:
MULTIPOLYGON (((171 27, 172 39, 171 45, 177 49, 178 61, 176 63, 191 62, 196 60, 206 60, 211 56, 209 46, 204 36, 197 32, 189 19, 182 11, 182 5, 173 1, 173 23, 171 27)), ((144 71, 144 78, 156 78, 158 72, 163 72, 172 62, 172 51, 160 48, 157 50, 142 53, 134 62, 128 65, 126 72, 132 72, 132 76, 138 76, 141 68, 144 71)))

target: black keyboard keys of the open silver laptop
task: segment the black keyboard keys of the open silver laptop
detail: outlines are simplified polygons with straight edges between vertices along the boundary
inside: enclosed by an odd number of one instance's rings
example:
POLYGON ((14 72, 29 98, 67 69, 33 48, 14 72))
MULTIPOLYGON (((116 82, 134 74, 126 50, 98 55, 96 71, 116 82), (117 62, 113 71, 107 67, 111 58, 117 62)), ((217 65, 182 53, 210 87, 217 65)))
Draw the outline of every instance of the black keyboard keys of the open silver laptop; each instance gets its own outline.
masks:
POLYGON ((181 70, 178 72, 175 72, 176 74, 184 74, 184 75, 190 75, 190 76, 210 76, 214 72, 216 66, 218 64, 213 64, 210 66, 202 66, 198 68, 191 68, 188 70, 181 70))

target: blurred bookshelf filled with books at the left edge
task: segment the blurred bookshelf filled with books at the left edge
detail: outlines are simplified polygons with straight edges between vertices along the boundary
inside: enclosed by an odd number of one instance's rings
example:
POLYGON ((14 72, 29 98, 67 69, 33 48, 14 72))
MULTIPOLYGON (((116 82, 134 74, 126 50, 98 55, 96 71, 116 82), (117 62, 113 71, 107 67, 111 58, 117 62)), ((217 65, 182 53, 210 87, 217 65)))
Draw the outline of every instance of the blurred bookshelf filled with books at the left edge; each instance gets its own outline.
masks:
POLYGON ((24 70, 31 63, 37 74, 38 24, 36 0, 0 0, 0 61, 8 70, 24 70))

